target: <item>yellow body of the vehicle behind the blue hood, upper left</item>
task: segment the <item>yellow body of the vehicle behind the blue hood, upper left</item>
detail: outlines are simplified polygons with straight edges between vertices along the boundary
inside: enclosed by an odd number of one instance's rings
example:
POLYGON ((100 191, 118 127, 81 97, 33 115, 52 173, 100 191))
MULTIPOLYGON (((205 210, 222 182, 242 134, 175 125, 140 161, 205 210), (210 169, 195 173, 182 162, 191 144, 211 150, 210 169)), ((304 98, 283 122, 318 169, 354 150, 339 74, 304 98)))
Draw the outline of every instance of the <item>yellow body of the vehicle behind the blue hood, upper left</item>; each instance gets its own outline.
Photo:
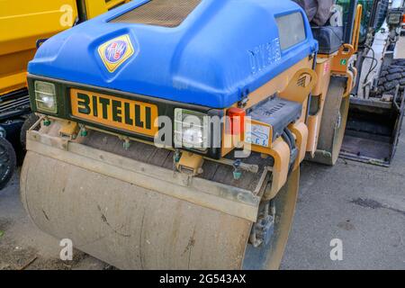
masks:
MULTIPOLYGON (((86 19, 130 0, 85 0, 86 19)), ((26 69, 37 40, 73 26, 76 0, 0 0, 0 95, 26 86, 26 69)))

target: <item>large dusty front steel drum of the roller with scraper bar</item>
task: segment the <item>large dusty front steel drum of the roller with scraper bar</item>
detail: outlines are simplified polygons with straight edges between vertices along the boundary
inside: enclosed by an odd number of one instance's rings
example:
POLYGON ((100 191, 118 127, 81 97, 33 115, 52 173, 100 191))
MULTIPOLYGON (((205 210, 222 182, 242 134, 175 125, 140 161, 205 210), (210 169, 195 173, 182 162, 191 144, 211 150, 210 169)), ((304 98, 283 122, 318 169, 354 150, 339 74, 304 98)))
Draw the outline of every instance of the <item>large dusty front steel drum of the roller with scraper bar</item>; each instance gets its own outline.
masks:
MULTIPOLYGON (((83 157, 91 155, 92 148, 82 144, 68 144, 72 151, 64 151, 42 147, 32 139, 28 141, 29 151, 21 175, 22 200, 41 230, 56 238, 70 238, 76 248, 121 269, 276 269, 280 266, 293 221, 299 168, 271 201, 271 211, 275 213, 266 244, 253 247, 250 244, 255 225, 252 220, 140 186, 158 184, 161 181, 158 179, 152 180, 153 183, 150 180, 130 183, 145 175, 130 174, 128 169, 133 166, 125 164, 131 161, 129 157, 148 158, 148 163, 154 163, 152 169, 161 171, 164 175, 160 177, 170 178, 167 180, 170 183, 182 177, 169 169, 173 163, 172 152, 142 143, 125 150, 112 136, 98 132, 88 135, 85 145, 124 156, 120 163, 125 165, 122 171, 126 173, 121 173, 118 166, 108 164, 112 163, 112 154, 98 157, 101 161, 94 166, 94 160, 83 157), (85 149, 83 156, 74 153, 76 148, 85 149), (103 166, 107 166, 105 170, 103 166), (165 169, 161 170, 162 167, 165 169), (114 170, 121 179, 105 175, 114 170), (124 178, 128 181, 123 181, 124 178)), ((260 160, 260 156, 257 159, 256 163, 268 161, 260 160)), ((147 165, 142 164, 145 172, 147 165)), ((218 185, 215 189, 223 184, 248 187, 257 179, 257 175, 244 174, 235 180, 231 166, 208 161, 203 169, 203 175, 218 185)), ((170 185, 164 184, 163 190, 170 190, 170 185)), ((190 197, 189 188, 185 188, 185 197, 190 197)), ((182 189, 183 184, 175 188, 182 189)), ((198 196, 206 197, 204 193, 198 196)), ((257 207, 260 215, 266 206, 260 203, 257 207)))

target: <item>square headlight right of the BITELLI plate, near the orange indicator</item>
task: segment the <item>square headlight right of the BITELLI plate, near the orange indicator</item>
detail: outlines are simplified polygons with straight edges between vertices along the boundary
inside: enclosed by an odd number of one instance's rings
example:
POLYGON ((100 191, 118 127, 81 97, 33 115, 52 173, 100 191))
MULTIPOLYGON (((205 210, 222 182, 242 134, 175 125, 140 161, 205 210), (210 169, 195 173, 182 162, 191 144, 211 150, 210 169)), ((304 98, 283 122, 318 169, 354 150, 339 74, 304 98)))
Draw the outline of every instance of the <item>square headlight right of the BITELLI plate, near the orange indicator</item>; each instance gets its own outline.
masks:
POLYGON ((175 147, 207 150, 208 128, 209 119, 206 114, 175 109, 175 147))

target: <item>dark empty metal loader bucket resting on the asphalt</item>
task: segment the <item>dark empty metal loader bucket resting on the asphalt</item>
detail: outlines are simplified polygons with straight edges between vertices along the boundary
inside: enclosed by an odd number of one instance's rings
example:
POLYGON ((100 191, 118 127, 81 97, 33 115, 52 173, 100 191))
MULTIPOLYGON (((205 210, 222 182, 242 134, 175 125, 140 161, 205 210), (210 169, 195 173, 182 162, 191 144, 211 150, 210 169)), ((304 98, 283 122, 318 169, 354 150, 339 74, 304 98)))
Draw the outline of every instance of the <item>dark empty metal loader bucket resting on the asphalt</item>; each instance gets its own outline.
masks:
POLYGON ((399 92, 396 99, 393 102, 350 99, 340 157, 376 166, 392 164, 401 136, 405 93, 399 92))

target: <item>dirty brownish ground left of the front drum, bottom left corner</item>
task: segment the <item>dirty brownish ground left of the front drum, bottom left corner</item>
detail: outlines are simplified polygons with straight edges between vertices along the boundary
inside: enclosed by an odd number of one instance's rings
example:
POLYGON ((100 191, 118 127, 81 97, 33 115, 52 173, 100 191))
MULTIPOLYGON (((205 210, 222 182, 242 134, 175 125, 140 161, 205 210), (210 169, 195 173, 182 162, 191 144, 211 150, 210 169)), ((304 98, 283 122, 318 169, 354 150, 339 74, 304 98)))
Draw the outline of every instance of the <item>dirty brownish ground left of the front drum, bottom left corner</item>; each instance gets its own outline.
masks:
POLYGON ((0 191, 0 270, 108 269, 110 266, 74 251, 73 261, 61 261, 59 242, 37 229, 19 197, 19 175, 0 191))

